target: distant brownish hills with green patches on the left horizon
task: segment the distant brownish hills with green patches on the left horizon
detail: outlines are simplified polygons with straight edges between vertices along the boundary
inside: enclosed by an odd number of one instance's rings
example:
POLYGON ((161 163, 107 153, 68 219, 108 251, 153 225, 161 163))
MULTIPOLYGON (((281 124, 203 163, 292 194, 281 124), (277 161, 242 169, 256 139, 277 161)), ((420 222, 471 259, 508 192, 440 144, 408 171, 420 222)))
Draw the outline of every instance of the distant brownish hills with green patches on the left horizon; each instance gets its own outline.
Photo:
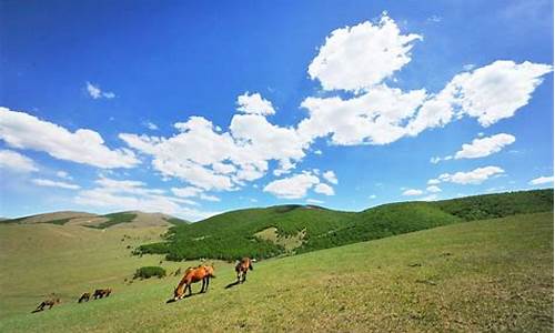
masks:
POLYGON ((105 229, 170 226, 189 222, 162 213, 144 213, 140 211, 118 212, 105 215, 98 215, 85 212, 62 211, 4 220, 2 221, 2 223, 50 223, 58 225, 81 225, 95 229, 105 229))

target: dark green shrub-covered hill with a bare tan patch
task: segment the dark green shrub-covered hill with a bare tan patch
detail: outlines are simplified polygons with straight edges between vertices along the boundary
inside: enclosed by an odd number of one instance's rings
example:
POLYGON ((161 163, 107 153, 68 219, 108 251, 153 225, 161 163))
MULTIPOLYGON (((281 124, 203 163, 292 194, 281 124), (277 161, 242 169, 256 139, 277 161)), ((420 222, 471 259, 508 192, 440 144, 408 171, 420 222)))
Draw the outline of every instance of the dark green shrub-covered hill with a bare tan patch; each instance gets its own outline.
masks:
POLYGON ((452 223, 548 211, 553 211, 553 189, 392 203, 359 213, 312 205, 248 209, 173 226, 164 242, 144 244, 137 253, 165 254, 178 261, 265 259, 452 223))

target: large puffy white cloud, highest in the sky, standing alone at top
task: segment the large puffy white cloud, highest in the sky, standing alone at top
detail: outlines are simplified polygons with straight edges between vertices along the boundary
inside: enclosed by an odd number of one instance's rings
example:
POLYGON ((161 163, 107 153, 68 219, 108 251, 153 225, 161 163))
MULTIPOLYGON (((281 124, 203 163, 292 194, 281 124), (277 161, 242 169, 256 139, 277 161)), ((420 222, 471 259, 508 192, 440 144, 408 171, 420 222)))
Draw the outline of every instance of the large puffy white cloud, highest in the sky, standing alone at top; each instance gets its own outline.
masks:
POLYGON ((309 65, 309 74, 325 90, 367 90, 408 63, 412 42, 420 39, 402 34, 386 14, 377 24, 366 21, 336 29, 309 65))

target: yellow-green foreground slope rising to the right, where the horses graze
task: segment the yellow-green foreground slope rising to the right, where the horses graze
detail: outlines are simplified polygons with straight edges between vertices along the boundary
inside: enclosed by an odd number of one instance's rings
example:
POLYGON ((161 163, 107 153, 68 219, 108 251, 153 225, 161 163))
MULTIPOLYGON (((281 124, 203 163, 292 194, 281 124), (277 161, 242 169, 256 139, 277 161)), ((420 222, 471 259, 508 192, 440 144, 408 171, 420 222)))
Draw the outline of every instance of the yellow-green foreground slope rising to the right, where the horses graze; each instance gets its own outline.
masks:
POLYGON ((17 314, 0 321, 0 331, 551 332, 553 213, 457 223, 268 260, 255 264, 245 284, 229 290, 232 266, 219 264, 216 274, 209 293, 176 303, 164 301, 179 279, 153 280, 121 286, 110 299, 17 314))

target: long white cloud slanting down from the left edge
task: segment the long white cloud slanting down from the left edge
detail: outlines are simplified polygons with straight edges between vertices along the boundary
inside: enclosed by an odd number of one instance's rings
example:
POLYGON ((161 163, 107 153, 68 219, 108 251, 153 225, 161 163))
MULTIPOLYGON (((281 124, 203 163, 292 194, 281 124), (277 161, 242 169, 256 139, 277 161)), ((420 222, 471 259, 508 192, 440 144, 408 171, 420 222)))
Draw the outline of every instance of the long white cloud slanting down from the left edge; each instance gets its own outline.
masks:
POLYGON ((132 151, 109 149, 92 130, 70 132, 34 115, 1 107, 0 139, 13 148, 43 151, 60 160, 103 169, 132 168, 139 163, 132 151))

